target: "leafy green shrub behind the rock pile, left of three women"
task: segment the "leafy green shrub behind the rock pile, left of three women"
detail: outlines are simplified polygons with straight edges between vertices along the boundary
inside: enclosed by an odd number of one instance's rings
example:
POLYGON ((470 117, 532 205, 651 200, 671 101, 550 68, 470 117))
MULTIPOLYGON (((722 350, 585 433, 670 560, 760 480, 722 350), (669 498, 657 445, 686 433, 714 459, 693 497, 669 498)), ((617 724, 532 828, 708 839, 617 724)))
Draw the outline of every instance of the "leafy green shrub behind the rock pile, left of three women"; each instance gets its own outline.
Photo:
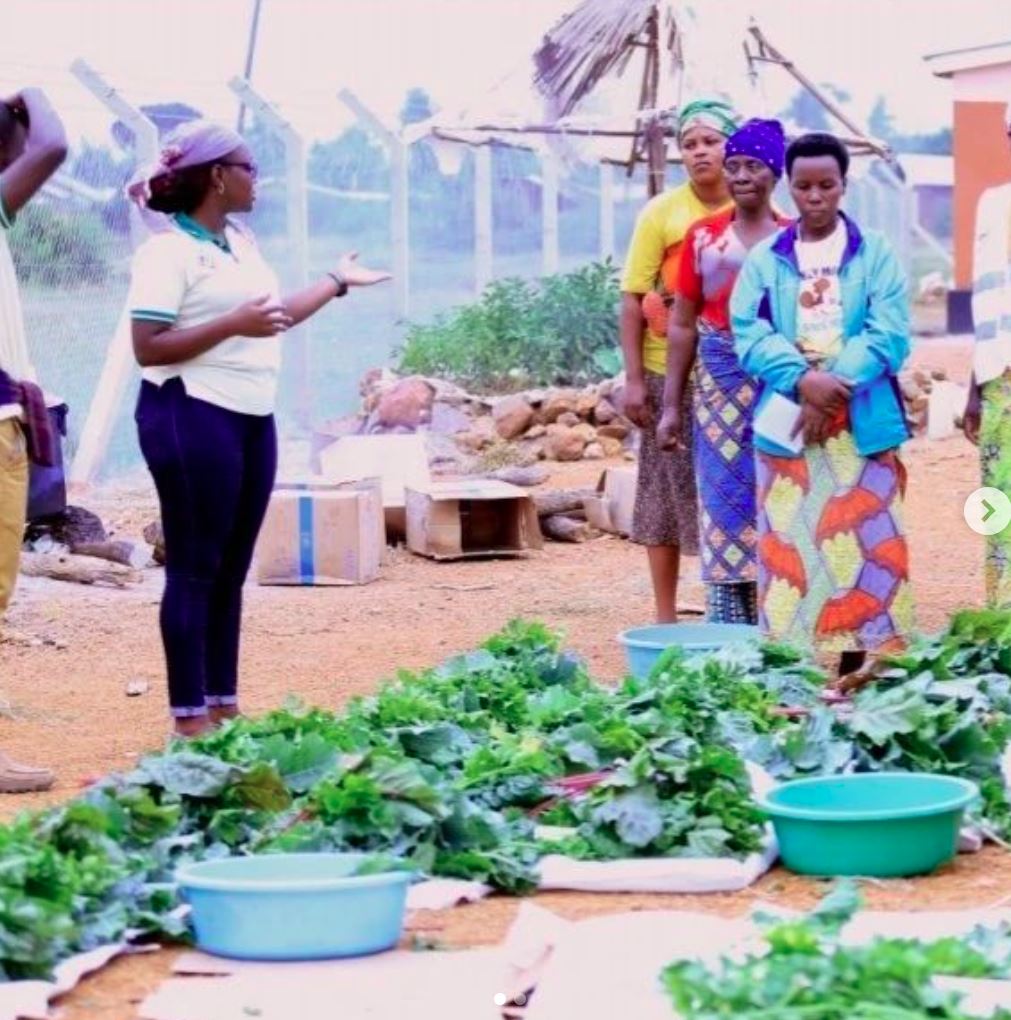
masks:
POLYGON ((496 280, 473 304, 411 325, 398 369, 498 391, 603 378, 621 367, 619 298, 609 259, 537 284, 496 280))

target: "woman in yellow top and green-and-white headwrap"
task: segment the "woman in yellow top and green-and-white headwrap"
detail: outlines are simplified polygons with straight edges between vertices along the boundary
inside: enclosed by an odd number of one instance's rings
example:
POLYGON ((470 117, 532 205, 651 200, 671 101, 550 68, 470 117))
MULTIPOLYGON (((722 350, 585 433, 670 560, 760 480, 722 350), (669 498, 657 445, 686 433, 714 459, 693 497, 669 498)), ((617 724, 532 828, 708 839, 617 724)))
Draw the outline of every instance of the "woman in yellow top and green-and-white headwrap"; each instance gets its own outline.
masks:
POLYGON ((629 538, 646 546, 658 623, 677 619, 680 555, 699 550, 691 387, 685 393, 679 449, 661 450, 656 439, 667 367, 667 311, 689 227, 730 206, 723 146, 736 129, 737 117, 721 100, 699 99, 681 109, 677 143, 689 178, 651 199, 640 213, 621 278, 625 414, 642 429, 629 538))

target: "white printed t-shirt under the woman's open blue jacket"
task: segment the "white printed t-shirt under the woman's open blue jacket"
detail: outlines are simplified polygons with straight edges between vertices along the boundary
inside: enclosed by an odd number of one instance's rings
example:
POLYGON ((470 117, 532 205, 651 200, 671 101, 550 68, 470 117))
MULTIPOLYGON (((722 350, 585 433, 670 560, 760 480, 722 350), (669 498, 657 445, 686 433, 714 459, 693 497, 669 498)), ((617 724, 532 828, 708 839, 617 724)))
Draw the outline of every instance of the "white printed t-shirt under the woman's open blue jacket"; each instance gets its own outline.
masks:
POLYGON ((797 296, 797 344, 815 367, 833 361, 843 350, 843 291, 839 270, 846 251, 846 224, 821 241, 797 241, 801 288, 797 296))

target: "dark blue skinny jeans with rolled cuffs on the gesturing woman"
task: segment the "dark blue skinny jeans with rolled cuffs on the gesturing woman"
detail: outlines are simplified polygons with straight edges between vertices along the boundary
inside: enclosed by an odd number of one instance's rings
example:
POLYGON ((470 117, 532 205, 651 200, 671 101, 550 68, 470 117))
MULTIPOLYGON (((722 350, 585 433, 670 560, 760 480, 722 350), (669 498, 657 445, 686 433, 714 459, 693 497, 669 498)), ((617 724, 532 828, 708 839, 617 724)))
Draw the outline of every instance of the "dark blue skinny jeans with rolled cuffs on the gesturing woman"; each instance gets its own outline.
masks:
POLYGON ((277 468, 272 415, 238 414, 141 384, 141 451, 165 534, 161 638, 173 716, 237 703, 242 585, 277 468))

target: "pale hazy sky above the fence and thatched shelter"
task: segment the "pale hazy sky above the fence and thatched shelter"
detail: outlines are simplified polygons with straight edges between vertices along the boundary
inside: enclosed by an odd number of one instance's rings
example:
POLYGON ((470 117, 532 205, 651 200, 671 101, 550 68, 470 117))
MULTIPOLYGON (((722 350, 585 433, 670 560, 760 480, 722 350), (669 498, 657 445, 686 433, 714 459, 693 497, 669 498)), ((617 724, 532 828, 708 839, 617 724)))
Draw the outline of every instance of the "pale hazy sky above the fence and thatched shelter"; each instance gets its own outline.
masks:
MULTIPOLYGON (((422 86, 445 111, 534 110, 529 55, 574 0, 263 0, 254 81, 311 136, 349 115, 350 87, 384 114, 422 86)), ((694 0, 685 43, 690 79, 746 90, 741 38, 749 14, 817 81, 847 89, 865 116, 888 98, 904 131, 950 120, 947 83, 924 53, 1011 39, 1011 0, 694 0)), ((137 103, 182 99, 234 115, 225 89, 244 59, 252 0, 3 0, 0 89, 49 89, 74 136, 107 118, 67 72, 84 57, 137 103)), ((764 98, 793 88, 767 69, 764 98)), ((1009 97, 1011 99, 1011 97, 1009 97)), ((752 103, 760 99, 752 97, 752 103)))

